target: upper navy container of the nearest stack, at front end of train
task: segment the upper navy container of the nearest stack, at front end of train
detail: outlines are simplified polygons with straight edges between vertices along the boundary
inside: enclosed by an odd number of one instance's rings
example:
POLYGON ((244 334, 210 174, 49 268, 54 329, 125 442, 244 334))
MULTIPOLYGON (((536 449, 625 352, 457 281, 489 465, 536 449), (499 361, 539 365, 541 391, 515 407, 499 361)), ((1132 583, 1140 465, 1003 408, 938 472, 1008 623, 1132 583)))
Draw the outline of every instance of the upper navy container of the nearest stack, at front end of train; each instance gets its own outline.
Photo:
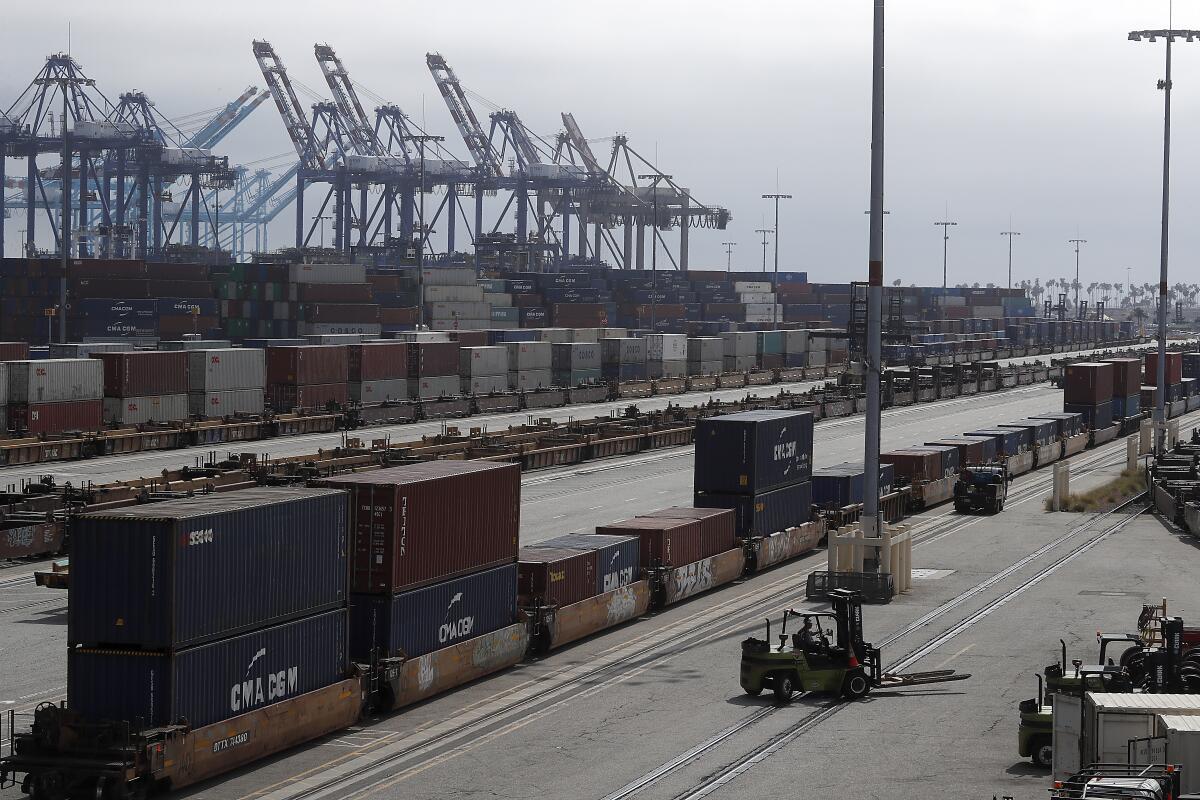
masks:
POLYGON ((344 604, 348 498, 254 488, 82 515, 71 636, 167 649, 344 604))

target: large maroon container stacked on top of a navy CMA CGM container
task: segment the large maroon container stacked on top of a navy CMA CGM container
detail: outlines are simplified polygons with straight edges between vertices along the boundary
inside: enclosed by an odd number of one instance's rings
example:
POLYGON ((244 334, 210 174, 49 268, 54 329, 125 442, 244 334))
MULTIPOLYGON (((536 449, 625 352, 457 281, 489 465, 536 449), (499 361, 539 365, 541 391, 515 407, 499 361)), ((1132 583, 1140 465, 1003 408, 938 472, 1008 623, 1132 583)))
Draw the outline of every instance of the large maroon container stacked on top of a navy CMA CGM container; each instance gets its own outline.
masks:
POLYGON ((516 561, 517 464, 431 461, 318 486, 350 493, 350 591, 404 591, 516 561))

